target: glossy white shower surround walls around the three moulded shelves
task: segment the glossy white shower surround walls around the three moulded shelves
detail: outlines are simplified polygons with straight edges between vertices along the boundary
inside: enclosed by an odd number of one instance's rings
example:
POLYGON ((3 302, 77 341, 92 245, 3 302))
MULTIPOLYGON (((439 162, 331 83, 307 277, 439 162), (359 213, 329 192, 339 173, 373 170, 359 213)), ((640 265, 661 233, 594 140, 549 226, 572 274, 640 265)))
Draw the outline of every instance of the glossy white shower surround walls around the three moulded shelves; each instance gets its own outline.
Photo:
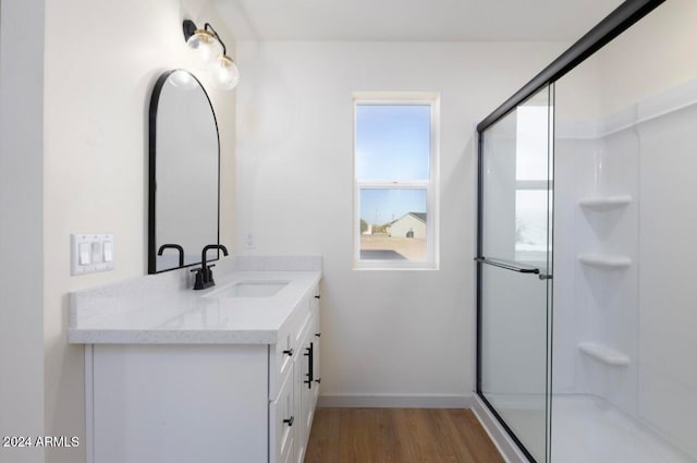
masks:
POLYGON ((697 106, 684 108, 689 101, 695 82, 582 123, 559 111, 558 95, 553 391, 604 399, 697 459, 697 106), (606 211, 578 204, 617 195, 631 203, 606 211), (631 264, 596 268, 579 263, 584 254, 631 264), (578 345, 588 342, 629 364, 583 354, 578 345))

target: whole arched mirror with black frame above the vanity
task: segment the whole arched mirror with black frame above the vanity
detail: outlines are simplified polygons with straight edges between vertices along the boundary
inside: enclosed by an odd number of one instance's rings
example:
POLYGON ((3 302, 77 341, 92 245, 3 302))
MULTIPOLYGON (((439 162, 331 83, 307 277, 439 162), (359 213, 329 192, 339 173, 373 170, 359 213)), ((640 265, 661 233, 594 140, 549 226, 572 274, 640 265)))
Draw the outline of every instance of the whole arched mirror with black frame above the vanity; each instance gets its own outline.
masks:
POLYGON ((148 273, 157 273, 199 264, 219 242, 220 142, 210 99, 187 71, 158 78, 149 112, 148 273))

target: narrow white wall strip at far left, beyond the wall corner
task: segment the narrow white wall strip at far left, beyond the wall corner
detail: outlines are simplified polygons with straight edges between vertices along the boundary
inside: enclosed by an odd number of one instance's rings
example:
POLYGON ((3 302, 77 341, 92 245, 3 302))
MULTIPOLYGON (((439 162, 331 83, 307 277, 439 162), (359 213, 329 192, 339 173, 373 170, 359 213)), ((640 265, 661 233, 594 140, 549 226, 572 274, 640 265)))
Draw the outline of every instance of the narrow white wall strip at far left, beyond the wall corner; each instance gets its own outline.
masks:
MULTIPOLYGON (((44 2, 0 4, 0 436, 44 435, 44 2)), ((42 449, 0 448, 1 462, 42 449)))

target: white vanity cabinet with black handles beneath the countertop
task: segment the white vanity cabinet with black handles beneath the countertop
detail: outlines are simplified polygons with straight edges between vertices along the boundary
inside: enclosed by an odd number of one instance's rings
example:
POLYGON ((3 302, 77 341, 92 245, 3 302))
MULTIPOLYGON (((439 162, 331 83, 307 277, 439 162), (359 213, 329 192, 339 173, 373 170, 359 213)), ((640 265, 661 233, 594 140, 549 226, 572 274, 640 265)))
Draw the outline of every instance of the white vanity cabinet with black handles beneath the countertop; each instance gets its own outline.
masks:
POLYGON ((316 296, 276 344, 87 344, 87 461, 302 463, 320 386, 316 296))

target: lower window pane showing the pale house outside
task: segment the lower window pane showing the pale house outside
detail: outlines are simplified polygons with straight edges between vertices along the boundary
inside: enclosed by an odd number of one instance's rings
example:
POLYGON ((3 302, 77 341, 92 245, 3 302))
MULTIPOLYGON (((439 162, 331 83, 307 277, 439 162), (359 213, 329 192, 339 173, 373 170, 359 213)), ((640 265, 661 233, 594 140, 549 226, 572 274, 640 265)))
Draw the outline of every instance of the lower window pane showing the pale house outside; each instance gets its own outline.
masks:
POLYGON ((426 260, 426 188, 360 190, 360 259, 426 260))

